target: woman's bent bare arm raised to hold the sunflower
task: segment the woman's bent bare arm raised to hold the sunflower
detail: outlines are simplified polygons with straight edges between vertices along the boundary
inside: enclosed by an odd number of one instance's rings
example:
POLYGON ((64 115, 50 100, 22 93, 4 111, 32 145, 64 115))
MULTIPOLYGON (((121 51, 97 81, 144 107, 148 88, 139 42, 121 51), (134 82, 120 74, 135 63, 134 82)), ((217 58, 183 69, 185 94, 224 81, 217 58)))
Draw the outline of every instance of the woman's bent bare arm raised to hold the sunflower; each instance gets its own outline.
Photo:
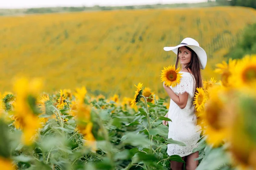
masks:
POLYGON ((183 94, 177 95, 172 91, 171 88, 164 85, 164 83, 163 83, 163 88, 166 90, 167 94, 170 96, 172 101, 174 101, 181 109, 186 107, 186 103, 187 103, 188 98, 189 98, 188 93, 185 92, 183 94))

